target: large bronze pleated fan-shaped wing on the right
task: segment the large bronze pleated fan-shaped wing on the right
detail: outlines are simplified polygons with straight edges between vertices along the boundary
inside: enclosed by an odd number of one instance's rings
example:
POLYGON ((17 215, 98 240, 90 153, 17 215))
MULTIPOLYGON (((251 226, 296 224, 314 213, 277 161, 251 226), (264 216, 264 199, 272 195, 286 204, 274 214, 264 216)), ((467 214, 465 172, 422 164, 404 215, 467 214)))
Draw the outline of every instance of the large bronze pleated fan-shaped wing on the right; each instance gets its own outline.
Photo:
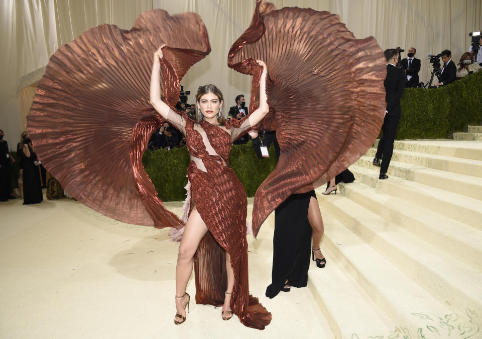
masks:
POLYGON ((256 236, 287 197, 323 185, 372 146, 386 108, 386 61, 375 38, 355 39, 337 15, 260 0, 228 54, 229 67, 253 76, 250 111, 259 104, 254 60, 267 64, 270 106, 257 128, 276 130, 281 148, 255 195, 256 236))

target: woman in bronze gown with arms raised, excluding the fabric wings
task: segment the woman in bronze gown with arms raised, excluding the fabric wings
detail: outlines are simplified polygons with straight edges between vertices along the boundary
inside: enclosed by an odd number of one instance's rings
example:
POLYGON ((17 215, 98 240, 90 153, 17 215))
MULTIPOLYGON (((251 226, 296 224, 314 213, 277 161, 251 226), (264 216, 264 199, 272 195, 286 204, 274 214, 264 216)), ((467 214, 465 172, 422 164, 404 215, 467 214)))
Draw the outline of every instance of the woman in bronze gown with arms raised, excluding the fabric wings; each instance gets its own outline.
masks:
POLYGON ((222 112, 221 92, 214 85, 205 85, 200 87, 196 95, 198 110, 194 122, 185 113, 175 113, 161 99, 162 47, 154 54, 151 104, 166 121, 186 136, 186 145, 191 154, 188 179, 192 199, 177 259, 177 314, 174 322, 180 324, 186 319, 185 308, 190 300, 186 286, 192 273, 194 255, 197 252, 196 260, 203 260, 203 256, 206 256, 212 261, 213 256, 206 252, 215 251, 220 252, 217 256, 225 258, 225 270, 219 270, 217 265, 210 262, 203 263, 205 274, 196 279, 197 295, 201 289, 202 297, 196 297, 196 301, 218 305, 219 296, 224 294, 221 310, 223 320, 230 319, 234 312, 245 325, 264 328, 270 322, 271 314, 249 295, 248 288, 246 192, 229 167, 228 155, 231 142, 248 132, 250 126, 260 122, 269 111, 265 91, 266 65, 257 61, 263 67, 257 110, 244 119, 227 122, 226 114, 222 112), (206 236, 208 232, 210 235, 206 236), (208 273, 218 279, 209 281, 204 278, 212 276, 208 273), (222 283, 223 280, 225 283, 222 283))

